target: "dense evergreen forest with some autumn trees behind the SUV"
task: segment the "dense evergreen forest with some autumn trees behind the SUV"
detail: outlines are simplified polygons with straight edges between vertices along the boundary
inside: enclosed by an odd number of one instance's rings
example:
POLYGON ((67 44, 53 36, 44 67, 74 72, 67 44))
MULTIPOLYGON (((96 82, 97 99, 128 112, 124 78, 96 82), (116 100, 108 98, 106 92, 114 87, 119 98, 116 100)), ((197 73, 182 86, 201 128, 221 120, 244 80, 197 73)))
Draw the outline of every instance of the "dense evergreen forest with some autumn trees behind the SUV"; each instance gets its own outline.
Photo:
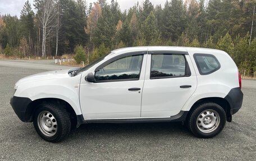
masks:
POLYGON ((254 0, 167 0, 154 6, 145 0, 122 11, 114 0, 27 1, 20 17, 0 15, 0 54, 75 54, 78 63, 89 63, 122 47, 203 47, 225 50, 240 72, 254 76, 255 5, 254 0))

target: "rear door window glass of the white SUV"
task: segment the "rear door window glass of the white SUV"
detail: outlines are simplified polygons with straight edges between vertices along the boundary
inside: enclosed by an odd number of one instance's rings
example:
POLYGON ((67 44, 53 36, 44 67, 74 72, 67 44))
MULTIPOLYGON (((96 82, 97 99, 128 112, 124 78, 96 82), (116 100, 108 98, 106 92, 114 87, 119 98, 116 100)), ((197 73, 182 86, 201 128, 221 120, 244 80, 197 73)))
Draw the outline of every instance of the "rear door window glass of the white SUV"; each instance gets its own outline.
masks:
POLYGON ((185 76, 186 61, 181 54, 152 54, 150 78, 185 76))

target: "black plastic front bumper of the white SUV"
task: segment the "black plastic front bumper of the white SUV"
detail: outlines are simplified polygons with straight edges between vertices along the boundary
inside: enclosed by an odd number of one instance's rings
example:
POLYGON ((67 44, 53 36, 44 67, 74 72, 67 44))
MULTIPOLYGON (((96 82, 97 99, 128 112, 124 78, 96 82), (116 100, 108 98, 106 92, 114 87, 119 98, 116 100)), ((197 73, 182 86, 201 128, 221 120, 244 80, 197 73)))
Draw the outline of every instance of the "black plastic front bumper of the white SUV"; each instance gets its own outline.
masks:
POLYGON ((30 119, 30 116, 26 113, 26 109, 31 102, 31 99, 19 96, 13 96, 10 100, 13 111, 23 122, 28 122, 30 119))

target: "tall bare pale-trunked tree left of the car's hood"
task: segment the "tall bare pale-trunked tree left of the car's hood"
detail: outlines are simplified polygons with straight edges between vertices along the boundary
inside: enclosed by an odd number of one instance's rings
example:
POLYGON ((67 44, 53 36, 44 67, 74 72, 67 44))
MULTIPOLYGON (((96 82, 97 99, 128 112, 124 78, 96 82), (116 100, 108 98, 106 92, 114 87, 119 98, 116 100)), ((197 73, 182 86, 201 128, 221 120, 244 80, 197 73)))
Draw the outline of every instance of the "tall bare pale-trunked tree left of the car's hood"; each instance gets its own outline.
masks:
POLYGON ((44 0, 40 3, 40 11, 38 11, 38 19, 43 30, 42 35, 42 57, 45 57, 45 44, 49 36, 51 35, 54 27, 53 20, 56 16, 54 1, 53 0, 44 0))

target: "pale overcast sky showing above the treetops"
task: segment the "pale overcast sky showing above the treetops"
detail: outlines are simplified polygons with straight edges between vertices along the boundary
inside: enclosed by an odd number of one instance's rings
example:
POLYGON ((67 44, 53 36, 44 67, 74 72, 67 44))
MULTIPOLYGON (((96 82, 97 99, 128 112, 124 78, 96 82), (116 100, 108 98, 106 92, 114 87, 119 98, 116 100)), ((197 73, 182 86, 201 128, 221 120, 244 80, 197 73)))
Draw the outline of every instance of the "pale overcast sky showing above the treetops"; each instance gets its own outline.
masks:
MULTIPOLYGON (((4 15, 8 13, 11 16, 16 15, 20 17, 20 11, 22 10, 22 7, 26 1, 27 0, 0 0, 0 14, 4 15)), ((96 1, 97 0, 86 0, 86 3, 89 6, 89 3, 96 1)), ((29 2, 31 5, 33 4, 33 0, 29 0, 29 2)), ((110 3, 111 0, 107 0, 107 2, 110 3)), ((139 2, 139 4, 142 6, 144 0, 117 0, 117 2, 119 3, 121 10, 124 11, 128 10, 131 6, 134 6, 134 4, 137 2, 139 2)), ((150 2, 152 2, 154 6, 156 6, 156 4, 161 4, 163 6, 166 0, 150 0, 150 2)))

